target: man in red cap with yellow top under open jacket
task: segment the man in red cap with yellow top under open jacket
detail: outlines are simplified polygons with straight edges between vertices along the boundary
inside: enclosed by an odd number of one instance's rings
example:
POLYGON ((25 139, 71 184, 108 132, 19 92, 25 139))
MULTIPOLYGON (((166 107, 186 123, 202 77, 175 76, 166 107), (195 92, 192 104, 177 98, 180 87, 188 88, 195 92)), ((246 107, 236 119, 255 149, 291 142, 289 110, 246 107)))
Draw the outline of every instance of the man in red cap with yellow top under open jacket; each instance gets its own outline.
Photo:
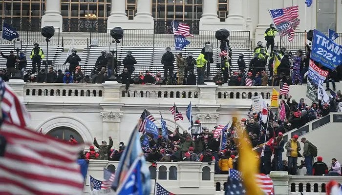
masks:
POLYGON ((286 156, 288 158, 288 169, 287 171, 291 175, 296 175, 297 172, 297 159, 299 151, 301 150, 298 141, 298 135, 294 135, 290 140, 287 141, 285 149, 287 150, 286 156))

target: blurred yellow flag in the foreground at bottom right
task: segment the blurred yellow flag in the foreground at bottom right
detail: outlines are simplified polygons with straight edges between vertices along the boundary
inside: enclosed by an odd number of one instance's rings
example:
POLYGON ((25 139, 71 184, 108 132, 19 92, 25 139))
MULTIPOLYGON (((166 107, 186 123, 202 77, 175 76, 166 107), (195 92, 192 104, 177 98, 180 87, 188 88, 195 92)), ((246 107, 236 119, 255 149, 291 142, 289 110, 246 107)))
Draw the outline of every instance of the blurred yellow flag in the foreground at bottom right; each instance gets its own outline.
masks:
POLYGON ((256 174, 259 170, 259 160, 256 152, 252 150, 251 144, 247 142, 248 136, 239 133, 239 163, 238 170, 242 173, 243 186, 246 195, 264 195, 260 187, 256 184, 256 174))

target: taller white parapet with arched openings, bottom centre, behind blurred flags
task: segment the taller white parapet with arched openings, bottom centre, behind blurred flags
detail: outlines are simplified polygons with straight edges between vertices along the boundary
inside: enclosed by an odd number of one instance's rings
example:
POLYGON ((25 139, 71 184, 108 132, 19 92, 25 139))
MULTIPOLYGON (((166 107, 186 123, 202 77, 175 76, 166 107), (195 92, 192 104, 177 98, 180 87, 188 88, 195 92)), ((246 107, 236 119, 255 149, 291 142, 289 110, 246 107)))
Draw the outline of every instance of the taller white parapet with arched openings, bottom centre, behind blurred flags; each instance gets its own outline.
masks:
MULTIPOLYGON (((103 168, 115 171, 118 161, 90 160, 87 178, 93 176, 103 180, 103 168)), ((155 188, 155 181, 174 194, 214 194, 214 164, 201 162, 157 162, 152 166, 147 162, 151 176, 151 194, 155 188)), ((89 193, 89 179, 84 185, 84 193, 89 193)))

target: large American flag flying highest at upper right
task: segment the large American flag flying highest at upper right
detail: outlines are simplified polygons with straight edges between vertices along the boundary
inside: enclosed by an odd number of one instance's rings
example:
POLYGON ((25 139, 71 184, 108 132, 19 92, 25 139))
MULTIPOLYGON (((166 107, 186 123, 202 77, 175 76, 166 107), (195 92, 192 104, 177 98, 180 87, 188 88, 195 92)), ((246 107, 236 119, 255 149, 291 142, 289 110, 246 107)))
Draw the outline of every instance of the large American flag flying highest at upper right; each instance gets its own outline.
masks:
POLYGON ((298 11, 299 11, 298 5, 281 8, 281 9, 270 10, 271 16, 276 25, 298 18, 299 17, 298 11))

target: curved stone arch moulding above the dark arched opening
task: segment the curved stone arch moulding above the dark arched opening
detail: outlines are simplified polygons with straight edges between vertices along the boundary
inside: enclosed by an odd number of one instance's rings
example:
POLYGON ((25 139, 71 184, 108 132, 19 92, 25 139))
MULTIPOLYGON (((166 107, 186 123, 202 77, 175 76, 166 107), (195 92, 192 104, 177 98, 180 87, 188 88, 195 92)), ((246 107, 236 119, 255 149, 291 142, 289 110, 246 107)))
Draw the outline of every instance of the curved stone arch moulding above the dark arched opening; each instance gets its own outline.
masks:
POLYGON ((83 122, 74 117, 57 116, 48 118, 41 125, 38 126, 38 130, 42 129, 43 134, 48 134, 50 131, 56 128, 70 128, 77 132, 84 142, 92 143, 93 138, 90 130, 83 124, 83 122))

